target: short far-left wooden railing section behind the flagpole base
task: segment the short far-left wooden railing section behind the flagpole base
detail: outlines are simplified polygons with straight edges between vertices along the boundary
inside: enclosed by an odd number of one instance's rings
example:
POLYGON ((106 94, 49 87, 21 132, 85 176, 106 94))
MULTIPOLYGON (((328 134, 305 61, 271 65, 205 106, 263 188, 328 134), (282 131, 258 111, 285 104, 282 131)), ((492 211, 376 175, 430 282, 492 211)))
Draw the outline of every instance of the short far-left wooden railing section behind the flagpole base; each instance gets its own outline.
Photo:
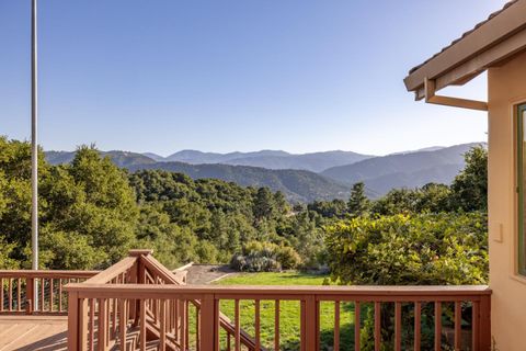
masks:
POLYGON ((66 314, 64 286, 99 271, 0 270, 0 314, 66 314))

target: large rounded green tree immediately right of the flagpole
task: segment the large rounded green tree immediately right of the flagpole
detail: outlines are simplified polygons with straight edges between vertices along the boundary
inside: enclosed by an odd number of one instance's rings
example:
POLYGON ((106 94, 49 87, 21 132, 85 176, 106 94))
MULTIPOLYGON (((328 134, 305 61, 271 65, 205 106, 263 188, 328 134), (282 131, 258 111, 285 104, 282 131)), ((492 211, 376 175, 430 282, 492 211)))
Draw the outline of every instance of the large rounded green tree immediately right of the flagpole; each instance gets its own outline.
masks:
POLYGON ((135 242, 139 212, 127 174, 93 147, 53 168, 42 196, 42 254, 49 268, 104 268, 135 242))

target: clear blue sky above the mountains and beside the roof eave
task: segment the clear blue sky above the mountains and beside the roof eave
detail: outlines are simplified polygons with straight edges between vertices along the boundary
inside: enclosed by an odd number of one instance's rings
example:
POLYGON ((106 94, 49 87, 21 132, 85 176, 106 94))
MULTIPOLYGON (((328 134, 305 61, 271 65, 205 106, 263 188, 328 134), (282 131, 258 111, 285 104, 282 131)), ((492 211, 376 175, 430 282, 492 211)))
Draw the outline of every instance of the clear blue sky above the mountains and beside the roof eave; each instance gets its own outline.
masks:
MULTIPOLYGON (((416 103, 402 79, 504 2, 39 0, 41 144, 380 155, 483 140, 483 112, 416 103)), ((485 77, 458 93, 485 99, 485 77)), ((0 0, 0 135, 30 137, 30 0, 0 0)))

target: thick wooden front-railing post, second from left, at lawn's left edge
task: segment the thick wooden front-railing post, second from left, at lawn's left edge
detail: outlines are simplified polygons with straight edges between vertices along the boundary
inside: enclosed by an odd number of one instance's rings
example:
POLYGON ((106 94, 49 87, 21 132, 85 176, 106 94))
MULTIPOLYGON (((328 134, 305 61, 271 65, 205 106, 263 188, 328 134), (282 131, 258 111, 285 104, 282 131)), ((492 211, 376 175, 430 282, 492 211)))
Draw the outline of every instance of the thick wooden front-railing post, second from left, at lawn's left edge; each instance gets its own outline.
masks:
POLYGON ((206 294, 201 302, 201 351, 219 350, 219 303, 213 294, 206 294))

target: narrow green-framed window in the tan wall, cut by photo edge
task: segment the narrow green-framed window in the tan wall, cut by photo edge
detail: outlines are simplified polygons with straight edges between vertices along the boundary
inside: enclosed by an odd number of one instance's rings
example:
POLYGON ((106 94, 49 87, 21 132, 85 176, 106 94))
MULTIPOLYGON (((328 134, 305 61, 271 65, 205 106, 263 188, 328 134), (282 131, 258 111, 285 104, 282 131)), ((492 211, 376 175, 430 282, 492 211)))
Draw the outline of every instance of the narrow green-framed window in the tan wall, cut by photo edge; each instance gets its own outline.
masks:
POLYGON ((517 272, 526 275, 526 103, 517 106, 517 192, 518 192, 518 240, 517 272))

